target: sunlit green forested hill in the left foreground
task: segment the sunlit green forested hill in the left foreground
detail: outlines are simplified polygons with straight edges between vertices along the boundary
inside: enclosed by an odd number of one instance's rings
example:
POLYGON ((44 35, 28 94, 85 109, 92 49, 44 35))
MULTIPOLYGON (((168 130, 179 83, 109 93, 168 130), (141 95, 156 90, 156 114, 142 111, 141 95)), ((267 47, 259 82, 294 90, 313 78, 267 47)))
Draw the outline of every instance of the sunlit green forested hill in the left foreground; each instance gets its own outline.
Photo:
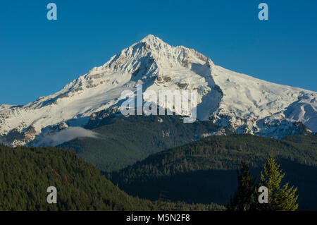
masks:
POLYGON ((92 164, 54 147, 0 145, 0 210, 223 210, 217 204, 142 200, 124 193, 92 164), (57 189, 48 204, 46 189, 57 189))

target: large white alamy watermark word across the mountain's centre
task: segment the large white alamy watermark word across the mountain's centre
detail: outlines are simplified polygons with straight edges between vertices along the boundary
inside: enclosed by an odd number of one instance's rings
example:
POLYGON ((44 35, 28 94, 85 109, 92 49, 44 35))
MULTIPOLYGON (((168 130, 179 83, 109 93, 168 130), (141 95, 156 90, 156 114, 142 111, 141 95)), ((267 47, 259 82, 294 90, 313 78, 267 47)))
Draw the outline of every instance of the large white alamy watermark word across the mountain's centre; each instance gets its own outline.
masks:
POLYGON ((197 90, 159 90, 159 98, 154 90, 142 91, 137 85, 137 94, 124 90, 121 99, 126 99, 120 107, 121 114, 128 115, 187 115, 184 123, 194 123, 197 118, 197 90), (128 98, 128 99, 126 99, 128 98), (135 102, 136 99, 136 102, 135 102), (167 110, 166 110, 167 109, 167 110))

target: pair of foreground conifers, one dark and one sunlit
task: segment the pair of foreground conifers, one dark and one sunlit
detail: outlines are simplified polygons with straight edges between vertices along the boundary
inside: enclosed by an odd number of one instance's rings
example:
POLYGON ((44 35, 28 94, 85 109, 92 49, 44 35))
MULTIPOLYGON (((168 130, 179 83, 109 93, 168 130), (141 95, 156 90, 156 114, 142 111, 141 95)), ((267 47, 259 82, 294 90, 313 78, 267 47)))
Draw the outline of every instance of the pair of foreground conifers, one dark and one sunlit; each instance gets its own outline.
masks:
POLYGON ((237 191, 227 205, 229 211, 294 211, 298 209, 297 187, 281 185, 285 172, 270 154, 259 181, 251 176, 243 160, 237 170, 237 191))

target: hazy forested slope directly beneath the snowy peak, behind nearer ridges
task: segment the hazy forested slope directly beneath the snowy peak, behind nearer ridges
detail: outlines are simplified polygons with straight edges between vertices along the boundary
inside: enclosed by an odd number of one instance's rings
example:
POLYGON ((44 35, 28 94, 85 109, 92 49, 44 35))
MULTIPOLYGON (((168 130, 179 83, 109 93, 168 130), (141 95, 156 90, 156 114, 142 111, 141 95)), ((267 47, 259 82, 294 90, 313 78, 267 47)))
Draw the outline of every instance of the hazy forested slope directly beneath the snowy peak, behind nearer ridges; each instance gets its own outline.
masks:
MULTIPOLYGON (((89 123, 86 128, 94 128, 89 123)), ((180 116, 109 116, 97 122, 98 138, 76 138, 58 147, 74 150, 101 171, 116 171, 216 130, 210 121, 183 123, 180 116)), ((32 144, 32 143, 31 143, 32 144)))

